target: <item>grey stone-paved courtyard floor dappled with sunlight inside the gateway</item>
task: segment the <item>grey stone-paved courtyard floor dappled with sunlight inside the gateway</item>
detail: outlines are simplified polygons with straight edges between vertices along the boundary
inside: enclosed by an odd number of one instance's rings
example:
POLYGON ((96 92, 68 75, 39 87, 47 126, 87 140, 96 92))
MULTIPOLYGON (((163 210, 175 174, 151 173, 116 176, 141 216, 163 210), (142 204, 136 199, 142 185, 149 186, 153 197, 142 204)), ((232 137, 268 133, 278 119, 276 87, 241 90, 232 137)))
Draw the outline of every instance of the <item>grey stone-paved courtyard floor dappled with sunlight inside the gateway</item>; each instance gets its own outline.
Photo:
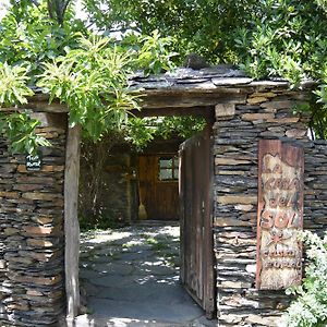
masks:
POLYGON ((179 281, 178 226, 82 233, 76 326, 217 326, 179 281))

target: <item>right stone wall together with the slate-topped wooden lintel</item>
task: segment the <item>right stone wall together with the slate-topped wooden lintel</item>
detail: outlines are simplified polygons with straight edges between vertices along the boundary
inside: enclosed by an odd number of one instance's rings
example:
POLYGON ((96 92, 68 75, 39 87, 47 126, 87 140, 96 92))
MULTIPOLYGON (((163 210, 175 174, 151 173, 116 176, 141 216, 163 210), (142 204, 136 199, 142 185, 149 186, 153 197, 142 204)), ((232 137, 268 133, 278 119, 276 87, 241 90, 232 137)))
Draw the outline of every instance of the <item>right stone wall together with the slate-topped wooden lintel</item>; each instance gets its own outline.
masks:
POLYGON ((258 141, 280 140, 304 148, 304 229, 327 223, 327 143, 307 137, 308 117, 294 114, 314 84, 292 90, 287 81, 253 81, 232 66, 180 69, 160 76, 135 75, 144 108, 192 114, 215 108, 214 239, 219 326, 279 326, 290 303, 283 290, 257 290, 258 141), (174 111, 177 112, 177 111, 174 111))

